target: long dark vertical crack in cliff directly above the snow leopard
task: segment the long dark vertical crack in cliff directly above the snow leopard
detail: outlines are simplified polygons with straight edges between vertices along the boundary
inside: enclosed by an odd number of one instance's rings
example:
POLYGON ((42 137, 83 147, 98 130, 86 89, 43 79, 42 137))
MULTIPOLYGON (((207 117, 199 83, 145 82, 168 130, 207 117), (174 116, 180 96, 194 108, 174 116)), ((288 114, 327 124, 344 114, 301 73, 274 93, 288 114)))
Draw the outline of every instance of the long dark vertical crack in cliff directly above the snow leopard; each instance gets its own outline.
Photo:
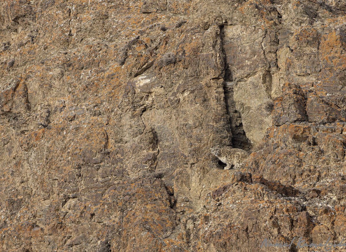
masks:
POLYGON ((249 151, 251 148, 251 142, 246 137, 246 133, 243 129, 242 115, 236 109, 236 103, 234 101, 233 86, 237 83, 237 80, 233 79, 231 70, 228 68, 227 53, 224 47, 225 33, 224 26, 220 27, 222 52, 225 57, 225 77, 224 77, 224 95, 227 109, 227 115, 229 116, 229 124, 231 126, 232 133, 232 145, 234 148, 240 148, 249 151))

